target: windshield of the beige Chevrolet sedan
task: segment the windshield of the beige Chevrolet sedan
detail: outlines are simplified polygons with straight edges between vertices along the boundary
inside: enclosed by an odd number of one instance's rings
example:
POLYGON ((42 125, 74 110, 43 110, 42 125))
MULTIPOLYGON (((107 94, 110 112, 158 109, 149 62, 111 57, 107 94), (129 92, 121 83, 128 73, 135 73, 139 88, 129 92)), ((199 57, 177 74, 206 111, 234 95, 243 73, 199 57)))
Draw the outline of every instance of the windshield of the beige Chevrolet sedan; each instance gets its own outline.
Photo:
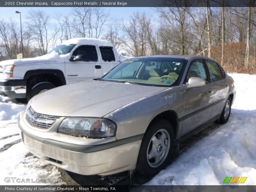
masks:
POLYGON ((147 86, 175 86, 185 63, 186 60, 180 58, 133 58, 120 63, 101 80, 147 86))

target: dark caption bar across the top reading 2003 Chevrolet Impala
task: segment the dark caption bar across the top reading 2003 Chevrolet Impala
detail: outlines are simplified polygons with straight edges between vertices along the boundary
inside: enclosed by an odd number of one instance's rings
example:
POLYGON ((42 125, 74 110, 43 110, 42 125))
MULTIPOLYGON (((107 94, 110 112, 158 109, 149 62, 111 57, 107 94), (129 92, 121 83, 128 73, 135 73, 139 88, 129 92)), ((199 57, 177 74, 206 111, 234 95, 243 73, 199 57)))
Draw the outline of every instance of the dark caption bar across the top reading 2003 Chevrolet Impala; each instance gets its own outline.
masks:
POLYGON ((255 0, 2 0, 0 7, 255 7, 255 0))

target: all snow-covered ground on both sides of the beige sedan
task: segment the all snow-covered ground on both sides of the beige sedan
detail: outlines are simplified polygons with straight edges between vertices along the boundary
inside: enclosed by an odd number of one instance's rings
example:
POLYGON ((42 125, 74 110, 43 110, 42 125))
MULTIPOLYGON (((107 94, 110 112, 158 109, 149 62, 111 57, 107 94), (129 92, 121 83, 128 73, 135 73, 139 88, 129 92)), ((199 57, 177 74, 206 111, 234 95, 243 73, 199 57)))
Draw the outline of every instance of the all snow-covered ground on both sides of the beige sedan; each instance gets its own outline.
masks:
MULTIPOLYGON (((148 185, 221 185, 225 177, 248 177, 245 184, 256 185, 256 75, 231 76, 236 99, 228 123, 194 144, 148 185)), ((13 184, 5 183, 6 177, 60 179, 55 166, 31 155, 20 142, 16 118, 26 106, 15 102, 0 96, 0 185, 13 184)))

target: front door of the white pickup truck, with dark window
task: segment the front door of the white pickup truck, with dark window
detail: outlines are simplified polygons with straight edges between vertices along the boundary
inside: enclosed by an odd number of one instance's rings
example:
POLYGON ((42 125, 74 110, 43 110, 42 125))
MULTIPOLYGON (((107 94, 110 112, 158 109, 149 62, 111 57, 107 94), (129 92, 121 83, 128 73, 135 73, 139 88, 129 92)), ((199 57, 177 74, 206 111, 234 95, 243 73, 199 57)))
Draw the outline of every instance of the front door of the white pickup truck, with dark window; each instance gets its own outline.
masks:
POLYGON ((67 84, 102 76, 99 52, 94 45, 80 45, 65 62, 67 84), (73 58, 73 60, 72 60, 73 58))

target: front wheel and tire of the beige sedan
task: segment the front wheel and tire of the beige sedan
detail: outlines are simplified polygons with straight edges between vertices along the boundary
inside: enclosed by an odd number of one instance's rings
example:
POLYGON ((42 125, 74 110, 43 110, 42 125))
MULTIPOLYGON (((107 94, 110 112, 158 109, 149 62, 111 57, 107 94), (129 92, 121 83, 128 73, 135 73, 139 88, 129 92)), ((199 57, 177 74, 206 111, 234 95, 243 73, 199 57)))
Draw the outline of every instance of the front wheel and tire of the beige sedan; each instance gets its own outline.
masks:
POLYGON ((136 170, 143 175, 156 175, 170 162, 173 146, 172 125, 166 120, 153 122, 142 139, 136 170), (165 139, 160 140, 160 138, 165 139))

